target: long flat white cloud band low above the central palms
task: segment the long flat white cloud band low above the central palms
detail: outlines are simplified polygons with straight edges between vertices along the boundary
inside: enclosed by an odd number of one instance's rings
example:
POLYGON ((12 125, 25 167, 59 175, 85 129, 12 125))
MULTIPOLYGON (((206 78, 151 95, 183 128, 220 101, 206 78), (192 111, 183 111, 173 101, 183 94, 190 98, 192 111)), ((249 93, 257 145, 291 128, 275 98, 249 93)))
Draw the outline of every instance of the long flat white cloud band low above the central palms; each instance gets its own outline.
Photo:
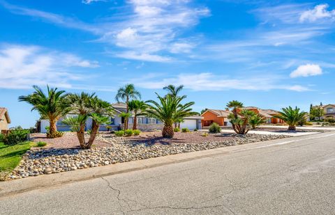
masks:
POLYGON ((217 90, 292 90, 297 92, 310 90, 304 86, 283 85, 274 78, 254 77, 230 79, 220 75, 203 72, 200 74, 178 74, 176 77, 162 78, 144 77, 131 80, 137 86, 149 89, 160 89, 170 83, 184 85, 185 88, 195 91, 217 91, 217 90))

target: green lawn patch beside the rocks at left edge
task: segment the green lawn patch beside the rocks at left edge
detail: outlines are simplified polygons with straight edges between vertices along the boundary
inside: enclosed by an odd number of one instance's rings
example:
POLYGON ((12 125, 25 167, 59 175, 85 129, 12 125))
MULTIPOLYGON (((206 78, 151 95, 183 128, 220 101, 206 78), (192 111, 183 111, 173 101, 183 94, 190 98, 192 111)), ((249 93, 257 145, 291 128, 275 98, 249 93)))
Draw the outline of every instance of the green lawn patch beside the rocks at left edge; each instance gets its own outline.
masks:
POLYGON ((22 155, 34 145, 36 144, 32 142, 17 145, 0 143, 0 180, 3 180, 3 177, 6 177, 7 173, 10 173, 20 163, 22 155))

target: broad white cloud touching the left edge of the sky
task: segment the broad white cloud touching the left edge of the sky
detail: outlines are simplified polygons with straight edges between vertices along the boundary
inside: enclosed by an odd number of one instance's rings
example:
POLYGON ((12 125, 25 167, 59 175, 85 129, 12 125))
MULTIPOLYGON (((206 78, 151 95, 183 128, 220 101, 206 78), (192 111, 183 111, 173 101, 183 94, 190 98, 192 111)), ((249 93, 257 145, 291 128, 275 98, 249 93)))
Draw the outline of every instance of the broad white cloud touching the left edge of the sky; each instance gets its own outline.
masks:
POLYGON ((68 67, 96 67, 73 54, 50 51, 37 46, 0 47, 0 88, 31 88, 32 85, 70 88, 71 81, 82 79, 68 67))

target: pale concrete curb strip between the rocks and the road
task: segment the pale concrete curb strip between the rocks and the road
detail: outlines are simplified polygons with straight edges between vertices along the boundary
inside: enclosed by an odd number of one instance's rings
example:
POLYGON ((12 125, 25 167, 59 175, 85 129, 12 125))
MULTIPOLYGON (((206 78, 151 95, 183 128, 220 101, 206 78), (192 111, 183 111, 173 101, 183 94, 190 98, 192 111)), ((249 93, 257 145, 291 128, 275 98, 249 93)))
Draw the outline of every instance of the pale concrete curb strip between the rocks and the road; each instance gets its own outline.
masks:
POLYGON ((201 159, 204 157, 215 157, 223 154, 242 152, 246 150, 259 150, 276 145, 295 143, 295 141, 308 138, 319 138, 325 135, 335 136, 335 132, 327 132, 322 134, 314 134, 308 136, 295 136, 290 138, 276 139, 273 141, 263 141, 258 143, 250 143, 246 145, 234 145, 224 148, 215 148, 211 150, 202 150, 197 152, 188 152, 183 154, 172 154, 165 157, 155 157, 151 159, 143 159, 137 161, 129 161, 126 163, 112 164, 109 166, 100 166, 95 168, 86 168, 64 173, 51 175, 39 175, 38 177, 27 177, 19 180, 11 180, 0 182, 0 198, 24 193, 35 189, 43 189, 50 186, 59 186, 61 184, 69 184, 84 180, 91 180, 97 177, 105 177, 108 175, 116 175, 120 173, 128 173, 146 168, 154 168, 157 166, 165 166, 168 164, 176 164, 193 159, 201 159))

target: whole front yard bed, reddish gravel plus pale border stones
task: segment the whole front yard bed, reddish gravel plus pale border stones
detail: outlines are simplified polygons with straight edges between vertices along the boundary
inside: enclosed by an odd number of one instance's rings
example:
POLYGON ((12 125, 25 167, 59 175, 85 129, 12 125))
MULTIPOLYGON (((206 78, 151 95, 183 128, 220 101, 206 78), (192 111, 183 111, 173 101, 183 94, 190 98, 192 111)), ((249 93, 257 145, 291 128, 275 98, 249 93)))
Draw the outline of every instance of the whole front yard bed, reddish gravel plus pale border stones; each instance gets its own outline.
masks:
MULTIPOLYGON (((105 166, 109 164, 161 157, 168 154, 209 150, 230 145, 269 141, 286 138, 284 135, 247 134, 209 134, 201 136, 202 132, 177 133, 174 138, 162 138, 160 132, 144 132, 140 136, 116 137, 113 134, 99 134, 97 142, 102 143, 90 150, 80 150, 78 143, 67 144, 66 138, 73 138, 73 133, 62 138, 56 138, 45 148, 32 148, 24 154, 20 165, 8 176, 10 179, 37 176, 64 171, 105 166), (57 140, 57 141, 56 141, 57 140), (59 145, 57 145, 59 144, 59 145), (70 148, 70 145, 76 148, 70 148)), ((35 139, 37 141, 39 139, 35 139)), ((49 142, 49 139, 44 139, 49 142)))

